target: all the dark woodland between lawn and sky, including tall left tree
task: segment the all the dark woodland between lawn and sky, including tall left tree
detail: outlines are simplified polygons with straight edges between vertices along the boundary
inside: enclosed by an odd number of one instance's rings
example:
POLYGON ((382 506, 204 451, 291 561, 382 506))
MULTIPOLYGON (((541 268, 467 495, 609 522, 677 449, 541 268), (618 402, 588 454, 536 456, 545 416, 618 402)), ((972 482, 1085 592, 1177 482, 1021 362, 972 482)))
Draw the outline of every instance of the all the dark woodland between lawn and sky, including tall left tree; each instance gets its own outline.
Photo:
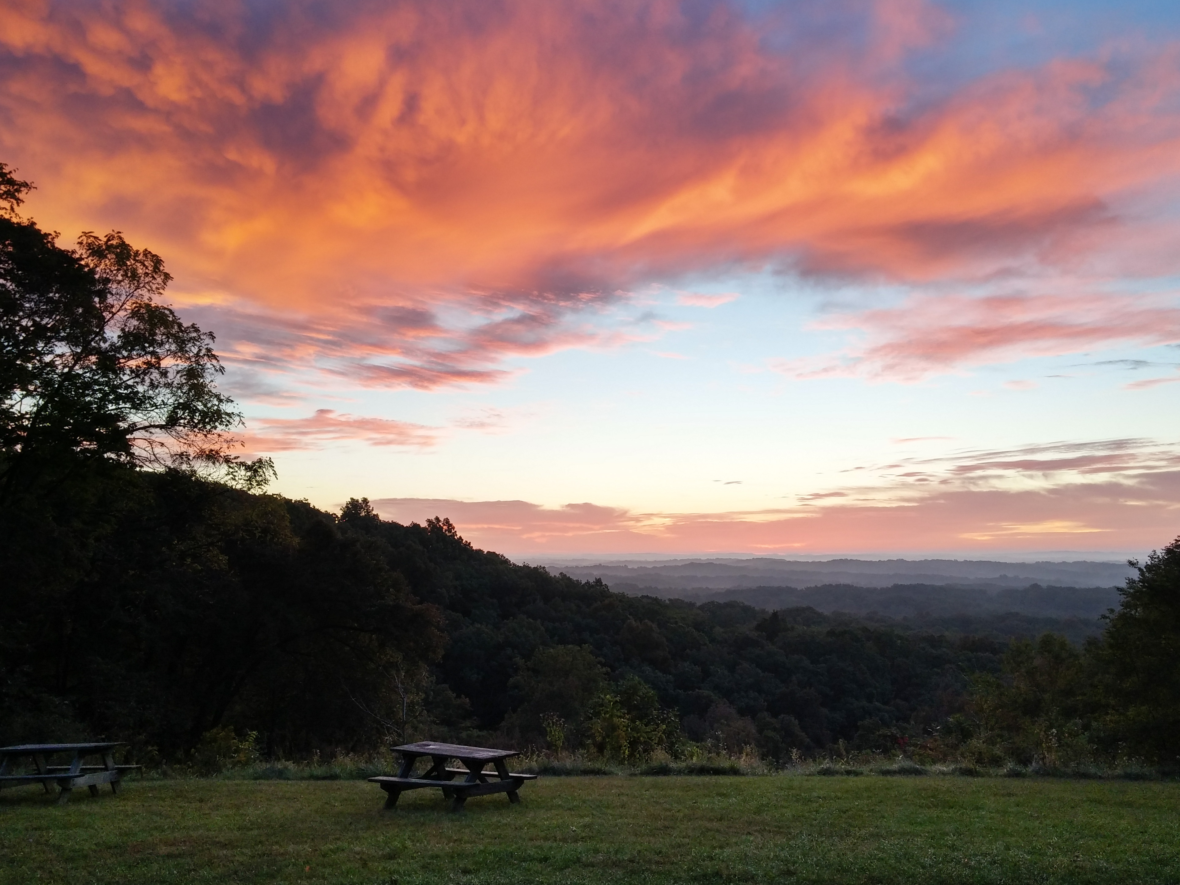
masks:
POLYGON ((163 262, 117 232, 59 247, 19 216, 28 188, 0 164, 0 742, 1176 761, 1180 540, 1080 645, 616 594, 446 519, 327 513, 234 454, 212 336, 162 303, 163 262))

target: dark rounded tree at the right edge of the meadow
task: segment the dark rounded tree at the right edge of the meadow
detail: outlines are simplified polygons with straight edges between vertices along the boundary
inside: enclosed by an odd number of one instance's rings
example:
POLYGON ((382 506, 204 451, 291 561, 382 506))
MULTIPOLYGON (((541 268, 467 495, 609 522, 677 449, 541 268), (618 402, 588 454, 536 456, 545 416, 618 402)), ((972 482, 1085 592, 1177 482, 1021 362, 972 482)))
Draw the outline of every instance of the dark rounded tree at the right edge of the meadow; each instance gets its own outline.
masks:
POLYGON ((1119 609, 1094 650, 1103 664, 1108 725, 1126 750, 1174 763, 1180 759, 1180 538, 1147 562, 1129 563, 1119 609))

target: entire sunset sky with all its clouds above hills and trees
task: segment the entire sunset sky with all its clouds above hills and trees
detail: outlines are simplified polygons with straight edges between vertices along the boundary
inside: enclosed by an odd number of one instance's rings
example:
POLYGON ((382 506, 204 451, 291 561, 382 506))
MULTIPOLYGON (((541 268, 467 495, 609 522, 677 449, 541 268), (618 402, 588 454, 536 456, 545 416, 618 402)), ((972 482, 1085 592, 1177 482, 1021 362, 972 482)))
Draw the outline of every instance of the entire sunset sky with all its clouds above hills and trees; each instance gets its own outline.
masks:
POLYGON ((1180 535, 1180 5, 0 0, 271 490, 513 557, 1180 535))

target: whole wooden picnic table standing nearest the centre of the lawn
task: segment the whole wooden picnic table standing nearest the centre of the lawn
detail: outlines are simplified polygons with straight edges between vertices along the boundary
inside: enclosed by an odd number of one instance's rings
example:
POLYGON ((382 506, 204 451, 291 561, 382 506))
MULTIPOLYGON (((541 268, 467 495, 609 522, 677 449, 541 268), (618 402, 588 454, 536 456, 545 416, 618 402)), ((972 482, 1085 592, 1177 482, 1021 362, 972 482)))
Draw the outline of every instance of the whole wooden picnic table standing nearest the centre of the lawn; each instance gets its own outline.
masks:
POLYGON ((379 784, 387 795, 385 807, 393 808, 398 798, 408 789, 439 787, 442 798, 450 801, 452 812, 463 808, 471 796, 507 793, 509 801, 519 802, 520 789, 526 780, 536 780, 536 774, 516 774, 509 771, 506 759, 520 755, 514 749, 491 749, 490 747, 464 747, 459 743, 435 743, 421 741, 394 747, 394 753, 401 754, 401 766, 394 778, 369 778, 371 784, 379 784), (419 759, 430 759, 431 766, 420 775, 414 776, 414 765, 419 759), (463 768, 448 768, 452 759, 463 763, 463 768), (484 771, 491 763, 493 771, 484 771), (465 775, 457 781, 458 775, 465 775), (492 780, 494 778, 494 780, 492 780))

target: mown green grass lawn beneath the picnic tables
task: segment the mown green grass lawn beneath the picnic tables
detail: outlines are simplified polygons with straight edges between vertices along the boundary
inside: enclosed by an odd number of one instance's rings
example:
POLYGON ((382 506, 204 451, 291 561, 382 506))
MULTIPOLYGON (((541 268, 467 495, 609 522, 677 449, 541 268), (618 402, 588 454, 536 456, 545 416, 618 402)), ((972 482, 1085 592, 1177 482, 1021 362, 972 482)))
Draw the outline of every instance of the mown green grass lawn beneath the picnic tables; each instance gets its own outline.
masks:
POLYGON ((447 814, 363 781, 0 794, 4 883, 1176 883, 1180 784, 551 778, 447 814))

